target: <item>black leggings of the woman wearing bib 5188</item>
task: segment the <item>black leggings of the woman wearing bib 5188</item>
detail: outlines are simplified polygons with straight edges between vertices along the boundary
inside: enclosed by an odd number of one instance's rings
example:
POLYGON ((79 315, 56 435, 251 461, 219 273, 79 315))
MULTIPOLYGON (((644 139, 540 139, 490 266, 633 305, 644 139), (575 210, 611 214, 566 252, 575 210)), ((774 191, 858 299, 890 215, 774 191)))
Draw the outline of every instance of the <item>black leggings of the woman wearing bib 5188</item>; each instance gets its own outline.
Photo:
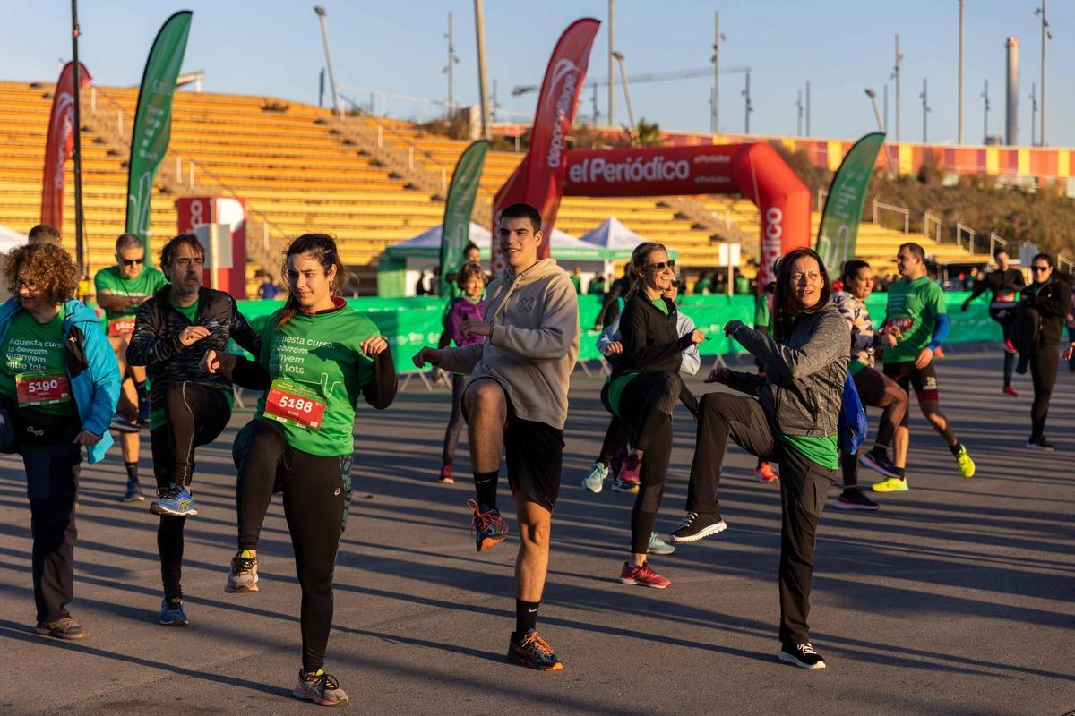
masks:
POLYGON ((325 457, 289 445, 274 422, 254 420, 235 438, 239 549, 256 550, 274 492, 284 493, 295 570, 302 589, 302 668, 325 666, 332 628, 332 571, 350 503, 350 455, 325 457))

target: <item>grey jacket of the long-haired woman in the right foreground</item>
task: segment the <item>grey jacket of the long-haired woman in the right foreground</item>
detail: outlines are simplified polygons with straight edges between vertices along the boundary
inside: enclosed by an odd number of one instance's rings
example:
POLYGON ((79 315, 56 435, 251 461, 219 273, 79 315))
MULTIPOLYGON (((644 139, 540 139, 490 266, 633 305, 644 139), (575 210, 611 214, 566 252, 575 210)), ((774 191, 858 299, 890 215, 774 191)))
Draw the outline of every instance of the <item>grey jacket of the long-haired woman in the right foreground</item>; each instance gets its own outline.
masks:
POLYGON ((783 344, 739 323, 729 335, 765 365, 765 378, 730 370, 727 384, 757 394, 770 423, 785 435, 836 435, 850 332, 832 302, 800 313, 783 344))

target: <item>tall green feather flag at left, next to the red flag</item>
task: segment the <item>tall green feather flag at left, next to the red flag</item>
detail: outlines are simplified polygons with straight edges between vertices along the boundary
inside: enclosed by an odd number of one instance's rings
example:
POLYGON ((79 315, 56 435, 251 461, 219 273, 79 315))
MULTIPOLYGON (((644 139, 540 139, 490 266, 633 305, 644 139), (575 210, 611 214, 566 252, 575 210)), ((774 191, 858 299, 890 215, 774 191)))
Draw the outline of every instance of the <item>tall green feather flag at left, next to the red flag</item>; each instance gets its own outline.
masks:
POLYGON ((142 73, 142 87, 134 112, 131 134, 131 158, 127 174, 127 228, 145 246, 145 261, 153 263, 149 252, 149 200, 153 177, 168 151, 172 136, 172 94, 180 75, 183 55, 187 49, 192 13, 184 10, 169 17, 157 33, 142 73))

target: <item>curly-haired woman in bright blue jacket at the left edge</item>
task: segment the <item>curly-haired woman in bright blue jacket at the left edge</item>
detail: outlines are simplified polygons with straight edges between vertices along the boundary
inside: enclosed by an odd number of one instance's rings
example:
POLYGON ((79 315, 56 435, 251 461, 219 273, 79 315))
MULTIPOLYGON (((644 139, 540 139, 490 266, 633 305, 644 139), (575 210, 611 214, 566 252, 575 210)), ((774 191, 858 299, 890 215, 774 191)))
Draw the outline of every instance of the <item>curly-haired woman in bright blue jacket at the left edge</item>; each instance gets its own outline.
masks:
POLYGON ((77 275, 60 247, 20 246, 4 259, 13 295, 0 306, 0 452, 26 465, 35 631, 66 640, 89 635, 68 611, 82 448, 90 464, 104 458, 119 398, 115 352, 94 311, 71 297, 77 275))

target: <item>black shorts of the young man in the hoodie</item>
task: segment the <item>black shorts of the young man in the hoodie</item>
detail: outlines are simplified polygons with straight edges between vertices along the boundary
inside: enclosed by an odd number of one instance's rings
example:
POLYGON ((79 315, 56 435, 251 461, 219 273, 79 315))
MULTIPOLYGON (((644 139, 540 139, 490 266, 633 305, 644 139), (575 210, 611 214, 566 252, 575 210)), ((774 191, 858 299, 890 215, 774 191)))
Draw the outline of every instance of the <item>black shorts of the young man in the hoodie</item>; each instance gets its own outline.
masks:
POLYGON ((521 492, 531 502, 551 512, 560 495, 563 430, 516 415, 506 391, 504 400, 507 404, 504 462, 507 463, 507 484, 512 495, 521 492))

